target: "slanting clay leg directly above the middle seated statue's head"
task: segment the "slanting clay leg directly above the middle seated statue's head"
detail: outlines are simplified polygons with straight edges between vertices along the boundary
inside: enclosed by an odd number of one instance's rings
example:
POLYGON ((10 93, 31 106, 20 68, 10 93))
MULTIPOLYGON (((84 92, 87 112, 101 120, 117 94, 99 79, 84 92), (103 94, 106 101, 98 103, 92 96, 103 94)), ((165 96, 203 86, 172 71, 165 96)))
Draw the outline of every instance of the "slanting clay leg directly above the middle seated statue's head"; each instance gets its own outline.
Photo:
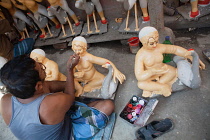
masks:
POLYGON ((77 19, 75 13, 69 8, 66 0, 61 0, 61 4, 62 4, 61 8, 71 16, 71 18, 74 20, 75 24, 77 25, 79 23, 79 20, 77 19))

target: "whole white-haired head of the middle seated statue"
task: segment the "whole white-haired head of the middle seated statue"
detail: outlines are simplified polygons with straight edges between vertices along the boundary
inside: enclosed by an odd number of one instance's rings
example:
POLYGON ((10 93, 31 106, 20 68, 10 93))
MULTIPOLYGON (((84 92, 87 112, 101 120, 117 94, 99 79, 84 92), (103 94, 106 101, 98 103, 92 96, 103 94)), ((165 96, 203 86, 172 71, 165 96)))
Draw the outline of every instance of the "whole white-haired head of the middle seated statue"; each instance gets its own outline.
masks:
POLYGON ((86 39, 82 36, 75 37, 72 41, 72 50, 78 55, 86 52, 87 50, 86 39))

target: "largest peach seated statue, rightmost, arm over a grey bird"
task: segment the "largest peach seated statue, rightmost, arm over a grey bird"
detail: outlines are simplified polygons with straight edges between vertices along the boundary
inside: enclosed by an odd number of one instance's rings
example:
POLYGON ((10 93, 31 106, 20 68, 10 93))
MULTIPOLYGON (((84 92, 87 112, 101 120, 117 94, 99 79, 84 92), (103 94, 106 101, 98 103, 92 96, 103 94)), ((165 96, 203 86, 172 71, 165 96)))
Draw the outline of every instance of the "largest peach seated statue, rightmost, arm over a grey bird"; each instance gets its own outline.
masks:
MULTIPOLYGON (((194 53, 180 46, 159 44, 159 34, 154 27, 144 27, 139 32, 139 39, 143 47, 136 54, 135 76, 138 87, 143 90, 142 96, 151 97, 153 94, 170 96, 172 84, 177 79, 177 69, 162 63, 163 54, 176 54, 192 59, 194 53)), ((200 67, 205 69, 203 62, 199 60, 199 63, 200 67)))

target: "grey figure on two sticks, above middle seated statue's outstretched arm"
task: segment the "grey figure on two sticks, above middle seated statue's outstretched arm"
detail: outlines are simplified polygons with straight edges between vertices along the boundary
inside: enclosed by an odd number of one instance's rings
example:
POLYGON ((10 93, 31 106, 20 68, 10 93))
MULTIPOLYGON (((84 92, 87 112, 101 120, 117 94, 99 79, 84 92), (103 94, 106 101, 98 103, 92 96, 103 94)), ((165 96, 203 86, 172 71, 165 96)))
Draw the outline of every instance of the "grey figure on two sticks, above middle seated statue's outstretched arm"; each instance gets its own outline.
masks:
POLYGON ((101 6, 101 3, 100 3, 99 0, 91 0, 91 2, 87 2, 86 0, 76 0, 76 3, 75 3, 76 8, 81 9, 81 10, 85 10, 85 12, 87 14, 87 26, 88 26, 88 32, 87 33, 92 33, 92 31, 90 30, 90 20, 89 20, 90 15, 93 15, 95 32, 100 32, 100 30, 98 29, 98 25, 96 23, 94 6, 96 6, 98 14, 100 15, 101 23, 102 24, 107 24, 107 20, 104 17, 104 12, 103 12, 103 9, 102 9, 102 6, 101 6))

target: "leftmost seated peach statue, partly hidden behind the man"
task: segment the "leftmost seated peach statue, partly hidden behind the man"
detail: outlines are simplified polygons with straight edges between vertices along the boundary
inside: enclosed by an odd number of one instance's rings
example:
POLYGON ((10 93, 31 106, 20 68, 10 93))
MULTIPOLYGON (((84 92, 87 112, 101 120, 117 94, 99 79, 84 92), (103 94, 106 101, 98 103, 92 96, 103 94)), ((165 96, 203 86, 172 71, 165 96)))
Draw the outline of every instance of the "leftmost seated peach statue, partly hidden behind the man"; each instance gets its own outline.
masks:
POLYGON ((45 52, 42 49, 34 49, 30 57, 44 65, 46 73, 45 81, 66 81, 66 76, 59 72, 58 64, 46 58, 45 52))

